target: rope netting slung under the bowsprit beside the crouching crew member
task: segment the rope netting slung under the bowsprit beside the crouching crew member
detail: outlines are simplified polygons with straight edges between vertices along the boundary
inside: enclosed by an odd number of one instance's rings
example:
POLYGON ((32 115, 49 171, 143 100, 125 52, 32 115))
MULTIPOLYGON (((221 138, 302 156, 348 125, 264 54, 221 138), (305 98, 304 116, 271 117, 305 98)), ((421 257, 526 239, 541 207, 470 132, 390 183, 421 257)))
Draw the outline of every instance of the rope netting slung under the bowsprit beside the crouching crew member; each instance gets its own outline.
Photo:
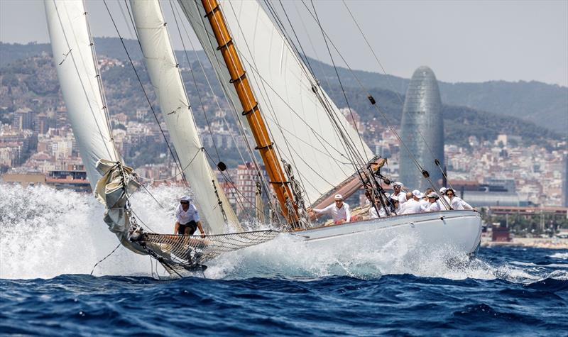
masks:
POLYGON ((191 269, 222 253, 271 241, 278 231, 250 231, 201 236, 144 233, 138 241, 160 263, 191 269))

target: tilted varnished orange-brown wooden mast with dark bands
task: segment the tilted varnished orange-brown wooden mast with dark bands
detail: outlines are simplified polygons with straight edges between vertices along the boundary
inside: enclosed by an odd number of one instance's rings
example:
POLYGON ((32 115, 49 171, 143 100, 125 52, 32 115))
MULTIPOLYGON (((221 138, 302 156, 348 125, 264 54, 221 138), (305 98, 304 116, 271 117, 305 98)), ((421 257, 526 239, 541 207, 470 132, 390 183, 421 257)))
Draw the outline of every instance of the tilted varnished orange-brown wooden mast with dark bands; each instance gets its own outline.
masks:
POLYGON ((246 116, 246 120, 251 127, 251 133, 256 141, 256 150, 261 153, 264 165, 266 165, 268 179, 270 179, 270 183, 278 198, 280 208, 282 209, 285 219, 295 227, 297 214, 295 214, 295 212, 289 212, 286 204, 287 202, 291 203, 294 209, 297 209, 297 206, 293 204, 293 199, 290 197, 292 194, 290 193, 290 187, 288 187, 284 170, 273 149, 274 143, 271 141, 270 136, 268 136, 266 124, 261 116, 260 109, 258 109, 258 102, 249 84, 249 79, 246 77, 246 72, 244 71, 239 55, 236 53, 233 39, 231 38, 229 29, 226 27, 219 3, 217 0, 202 0, 202 4, 206 17, 209 19, 209 24, 217 39, 217 45, 219 45, 217 49, 221 51, 227 70, 229 70, 231 76, 229 82, 234 84, 236 94, 239 96, 239 101, 241 101, 241 105, 243 106, 243 115, 246 116))

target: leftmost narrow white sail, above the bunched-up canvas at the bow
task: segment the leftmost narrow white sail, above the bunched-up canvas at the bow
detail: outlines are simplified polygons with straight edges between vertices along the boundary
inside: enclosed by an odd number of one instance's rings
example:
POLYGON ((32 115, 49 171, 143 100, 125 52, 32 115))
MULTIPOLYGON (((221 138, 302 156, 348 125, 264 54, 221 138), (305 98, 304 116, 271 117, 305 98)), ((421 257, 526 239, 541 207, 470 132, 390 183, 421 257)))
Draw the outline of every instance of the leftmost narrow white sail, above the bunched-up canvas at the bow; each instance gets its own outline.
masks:
POLYGON ((101 177, 99 159, 117 162, 107 113, 97 81, 83 1, 45 0, 51 48, 67 116, 92 190, 101 177))

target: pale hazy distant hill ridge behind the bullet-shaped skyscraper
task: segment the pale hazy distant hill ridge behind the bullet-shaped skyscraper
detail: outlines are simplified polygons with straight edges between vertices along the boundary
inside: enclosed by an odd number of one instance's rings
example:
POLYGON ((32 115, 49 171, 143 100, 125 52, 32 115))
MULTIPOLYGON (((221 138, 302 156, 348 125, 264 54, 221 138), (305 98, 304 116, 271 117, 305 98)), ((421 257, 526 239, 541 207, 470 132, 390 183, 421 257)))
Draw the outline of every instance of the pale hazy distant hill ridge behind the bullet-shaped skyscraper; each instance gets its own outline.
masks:
MULTIPOLYGON (((332 66, 310 59, 317 77, 337 83, 332 66)), ((417 65, 417 67, 420 65, 417 65)), ((346 87, 359 87, 351 72, 338 67, 339 76, 346 87)), ((436 70, 434 69, 434 72, 436 70)), ((354 70, 361 83, 368 88, 393 90, 406 94, 410 79, 375 72, 354 70)), ((409 74, 411 75, 411 74, 409 74)), ((483 83, 447 83, 438 81, 444 104, 466 106, 500 116, 513 116, 567 135, 568 88, 542 82, 491 81, 483 83)))

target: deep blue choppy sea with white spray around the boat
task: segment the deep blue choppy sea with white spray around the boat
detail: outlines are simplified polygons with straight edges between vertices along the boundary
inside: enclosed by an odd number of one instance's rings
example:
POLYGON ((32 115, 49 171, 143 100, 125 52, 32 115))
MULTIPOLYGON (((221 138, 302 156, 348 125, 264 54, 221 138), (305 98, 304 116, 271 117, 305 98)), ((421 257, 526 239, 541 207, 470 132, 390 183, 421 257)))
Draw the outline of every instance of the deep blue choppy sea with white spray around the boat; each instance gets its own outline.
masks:
MULTIPOLYGON (((179 187, 138 192, 153 231, 173 231, 179 187), (159 204, 158 204, 159 203, 159 204)), ((291 248, 287 239, 175 280, 121 246, 89 194, 0 184, 0 333, 23 335, 568 335, 568 251, 481 248, 408 255, 291 248), (90 273, 93 275, 89 275, 90 273)))

